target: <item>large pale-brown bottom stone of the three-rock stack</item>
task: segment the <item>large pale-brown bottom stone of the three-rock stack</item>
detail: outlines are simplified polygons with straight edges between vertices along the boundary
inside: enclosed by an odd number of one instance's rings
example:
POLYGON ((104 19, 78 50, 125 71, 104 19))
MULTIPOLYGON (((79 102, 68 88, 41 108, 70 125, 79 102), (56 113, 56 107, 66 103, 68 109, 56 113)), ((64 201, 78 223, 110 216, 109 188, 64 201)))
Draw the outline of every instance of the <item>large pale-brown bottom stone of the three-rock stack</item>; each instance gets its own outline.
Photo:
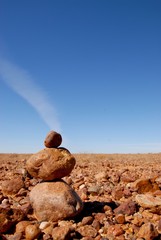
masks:
POLYGON ((83 208, 80 197, 62 180, 37 184, 29 197, 38 221, 58 221, 74 217, 83 208))

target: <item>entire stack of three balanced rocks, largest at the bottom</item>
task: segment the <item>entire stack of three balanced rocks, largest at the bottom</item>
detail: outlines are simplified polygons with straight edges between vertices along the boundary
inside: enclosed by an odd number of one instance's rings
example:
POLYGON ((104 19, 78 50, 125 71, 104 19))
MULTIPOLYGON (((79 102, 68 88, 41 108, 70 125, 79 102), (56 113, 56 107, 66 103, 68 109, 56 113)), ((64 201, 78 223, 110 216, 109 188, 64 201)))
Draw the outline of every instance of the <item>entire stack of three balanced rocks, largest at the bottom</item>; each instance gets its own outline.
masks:
POLYGON ((83 209, 80 197, 62 180, 71 173, 76 160, 67 149, 59 147, 61 143, 61 135, 50 131, 44 141, 45 148, 26 162, 29 174, 41 179, 29 195, 34 217, 38 221, 69 219, 83 209))

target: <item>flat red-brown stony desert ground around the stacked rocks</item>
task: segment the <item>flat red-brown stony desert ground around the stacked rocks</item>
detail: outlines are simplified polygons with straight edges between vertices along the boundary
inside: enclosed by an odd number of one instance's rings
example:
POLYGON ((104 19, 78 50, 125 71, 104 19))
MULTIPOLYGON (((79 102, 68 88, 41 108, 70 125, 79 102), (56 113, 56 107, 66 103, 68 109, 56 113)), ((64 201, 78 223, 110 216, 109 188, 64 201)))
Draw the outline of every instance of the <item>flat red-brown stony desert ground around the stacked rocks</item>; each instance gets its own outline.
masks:
POLYGON ((41 182, 26 171, 31 154, 0 154, 0 239, 161 239, 161 153, 73 155, 63 180, 83 209, 50 222, 36 220, 30 204, 41 182))

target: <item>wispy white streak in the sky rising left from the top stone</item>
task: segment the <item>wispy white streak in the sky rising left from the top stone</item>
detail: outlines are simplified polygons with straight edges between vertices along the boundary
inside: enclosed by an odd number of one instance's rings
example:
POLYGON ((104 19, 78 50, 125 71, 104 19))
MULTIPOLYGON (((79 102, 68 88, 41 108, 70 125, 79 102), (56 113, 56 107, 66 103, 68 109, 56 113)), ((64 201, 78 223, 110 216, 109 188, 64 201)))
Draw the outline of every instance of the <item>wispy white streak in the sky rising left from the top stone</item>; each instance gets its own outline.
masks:
POLYGON ((55 108, 27 71, 8 60, 0 59, 0 77, 38 112, 50 129, 60 131, 55 108))

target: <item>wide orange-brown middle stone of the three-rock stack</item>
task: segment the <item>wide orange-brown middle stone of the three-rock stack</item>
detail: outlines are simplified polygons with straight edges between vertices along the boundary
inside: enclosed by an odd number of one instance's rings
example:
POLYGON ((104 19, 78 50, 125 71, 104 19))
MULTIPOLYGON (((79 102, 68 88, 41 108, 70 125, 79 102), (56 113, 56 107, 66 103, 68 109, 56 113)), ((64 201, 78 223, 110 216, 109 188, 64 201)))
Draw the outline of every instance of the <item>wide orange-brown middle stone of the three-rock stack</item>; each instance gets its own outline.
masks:
POLYGON ((67 149, 45 148, 27 160, 26 169, 32 177, 48 181, 69 175, 75 163, 75 158, 67 149))

